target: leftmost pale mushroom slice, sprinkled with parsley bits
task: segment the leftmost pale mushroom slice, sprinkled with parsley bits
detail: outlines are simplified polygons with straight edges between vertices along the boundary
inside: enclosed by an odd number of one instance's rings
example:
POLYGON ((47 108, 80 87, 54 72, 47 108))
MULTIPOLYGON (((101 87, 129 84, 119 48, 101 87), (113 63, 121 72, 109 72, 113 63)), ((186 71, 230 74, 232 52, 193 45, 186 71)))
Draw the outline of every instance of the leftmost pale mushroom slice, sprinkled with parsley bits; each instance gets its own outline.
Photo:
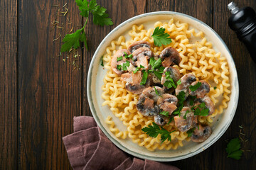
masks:
MULTIPOLYGON (((126 49, 121 49, 121 50, 117 50, 117 52, 114 53, 114 56, 112 57, 110 66, 113 72, 115 72, 118 75, 121 75, 124 72, 128 72, 128 71, 124 71, 124 70, 119 70, 117 69, 117 65, 122 65, 124 64, 126 61, 128 61, 129 59, 125 58, 125 53, 127 53, 127 55, 130 55, 131 52, 129 52, 126 49), (119 60, 118 58, 122 57, 122 60, 119 60), (119 61, 117 61, 119 60, 119 61)), ((130 64, 131 65, 131 64, 130 64)))

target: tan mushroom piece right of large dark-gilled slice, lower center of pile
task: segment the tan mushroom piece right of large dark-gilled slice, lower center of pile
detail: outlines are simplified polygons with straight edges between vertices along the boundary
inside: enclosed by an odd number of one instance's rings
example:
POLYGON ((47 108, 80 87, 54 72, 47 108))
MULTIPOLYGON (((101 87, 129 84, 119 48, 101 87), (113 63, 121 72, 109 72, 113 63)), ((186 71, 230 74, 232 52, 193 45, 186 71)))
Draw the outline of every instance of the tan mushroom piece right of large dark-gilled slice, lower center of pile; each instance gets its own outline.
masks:
POLYGON ((159 105, 160 109, 163 111, 169 112, 169 115, 173 113, 177 108, 178 98, 171 94, 163 94, 157 100, 157 104, 159 105))

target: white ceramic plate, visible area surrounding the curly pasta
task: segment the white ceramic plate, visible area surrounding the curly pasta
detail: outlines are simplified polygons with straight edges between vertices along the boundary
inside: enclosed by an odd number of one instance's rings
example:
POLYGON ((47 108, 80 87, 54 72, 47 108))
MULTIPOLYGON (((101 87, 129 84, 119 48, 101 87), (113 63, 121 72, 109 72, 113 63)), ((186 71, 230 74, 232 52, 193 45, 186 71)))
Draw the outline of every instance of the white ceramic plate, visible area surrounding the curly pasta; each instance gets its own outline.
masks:
POLYGON ((213 29, 207 26, 206 23, 203 23, 202 21, 199 21, 198 19, 191 16, 187 16, 183 13, 170 11, 144 13, 142 15, 130 18, 129 20, 124 21, 119 26, 117 26, 117 28, 114 28, 114 30, 112 30, 104 38, 104 40, 102 40, 99 47, 97 47, 97 50, 92 57, 87 77, 87 95, 90 109, 92 111, 93 117, 97 122, 97 125, 99 125, 105 135, 107 135, 107 137, 114 143, 114 145, 124 150, 124 152, 132 154, 135 157, 151 159, 159 162, 170 162, 192 157, 193 155, 198 154, 199 152, 202 152, 206 148, 210 147, 210 145, 213 145, 213 143, 218 140, 221 135, 223 135, 225 130, 228 129, 228 126, 233 120, 235 110, 238 106, 238 94, 238 75, 235 69, 233 57, 230 55, 230 51, 225 45, 225 42, 223 42, 220 36, 215 33, 213 29), (107 116, 112 115, 117 128, 120 130, 126 130, 124 125, 122 125, 122 122, 119 121, 118 118, 114 117, 112 111, 110 111, 110 108, 108 106, 102 106, 104 100, 101 98, 101 88, 107 69, 102 69, 102 66, 100 66, 100 60, 102 55, 105 54, 106 47, 110 45, 112 40, 117 39, 120 35, 124 35, 127 40, 129 40, 127 31, 132 29, 132 25, 139 25, 143 23, 145 28, 154 28, 154 23, 156 21, 165 22, 169 21, 171 18, 181 22, 186 22, 191 26, 191 28, 195 28, 196 30, 202 30, 207 40, 212 42, 213 48, 221 52, 221 54, 227 58, 230 69, 231 95, 228 108, 225 109, 223 114, 219 116, 218 121, 213 124, 213 133, 210 135, 208 140, 202 143, 183 142, 184 146, 178 147, 176 150, 156 150, 154 152, 150 152, 144 147, 139 147, 139 145, 133 143, 132 140, 118 139, 112 134, 112 132, 110 132, 108 125, 105 123, 107 116))

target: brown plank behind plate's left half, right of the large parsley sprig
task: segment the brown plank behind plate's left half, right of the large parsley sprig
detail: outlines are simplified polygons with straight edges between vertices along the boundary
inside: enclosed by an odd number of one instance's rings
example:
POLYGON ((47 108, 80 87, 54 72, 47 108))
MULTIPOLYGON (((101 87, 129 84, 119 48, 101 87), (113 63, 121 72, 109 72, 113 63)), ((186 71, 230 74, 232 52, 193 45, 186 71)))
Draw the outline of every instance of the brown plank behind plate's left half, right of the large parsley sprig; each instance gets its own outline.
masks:
POLYGON ((146 13, 146 0, 143 1, 97 1, 100 6, 104 6, 107 8, 107 13, 110 14, 110 18, 114 23, 113 26, 95 26, 92 23, 92 17, 89 18, 89 22, 85 28, 85 32, 87 35, 87 42, 89 50, 84 50, 84 57, 83 57, 83 67, 82 70, 84 71, 82 75, 82 115, 92 115, 90 112, 90 107, 87 101, 87 72, 90 66, 90 61, 92 56, 97 49, 97 46, 100 45, 100 42, 105 38, 107 33, 110 33, 112 29, 118 26, 123 21, 126 21, 133 16, 137 16, 142 13, 146 13), (118 14, 117 14, 118 13, 118 14))

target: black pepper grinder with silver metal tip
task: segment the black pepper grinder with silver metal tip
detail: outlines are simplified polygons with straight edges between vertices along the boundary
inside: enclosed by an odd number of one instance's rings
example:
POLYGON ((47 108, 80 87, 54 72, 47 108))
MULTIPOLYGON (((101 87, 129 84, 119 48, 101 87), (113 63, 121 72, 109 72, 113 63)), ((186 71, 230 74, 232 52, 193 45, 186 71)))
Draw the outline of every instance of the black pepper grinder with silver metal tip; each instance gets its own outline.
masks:
POLYGON ((228 4, 232 16, 228 19, 228 26, 238 35, 252 60, 256 63, 256 14, 250 7, 238 8, 234 2, 228 4))

